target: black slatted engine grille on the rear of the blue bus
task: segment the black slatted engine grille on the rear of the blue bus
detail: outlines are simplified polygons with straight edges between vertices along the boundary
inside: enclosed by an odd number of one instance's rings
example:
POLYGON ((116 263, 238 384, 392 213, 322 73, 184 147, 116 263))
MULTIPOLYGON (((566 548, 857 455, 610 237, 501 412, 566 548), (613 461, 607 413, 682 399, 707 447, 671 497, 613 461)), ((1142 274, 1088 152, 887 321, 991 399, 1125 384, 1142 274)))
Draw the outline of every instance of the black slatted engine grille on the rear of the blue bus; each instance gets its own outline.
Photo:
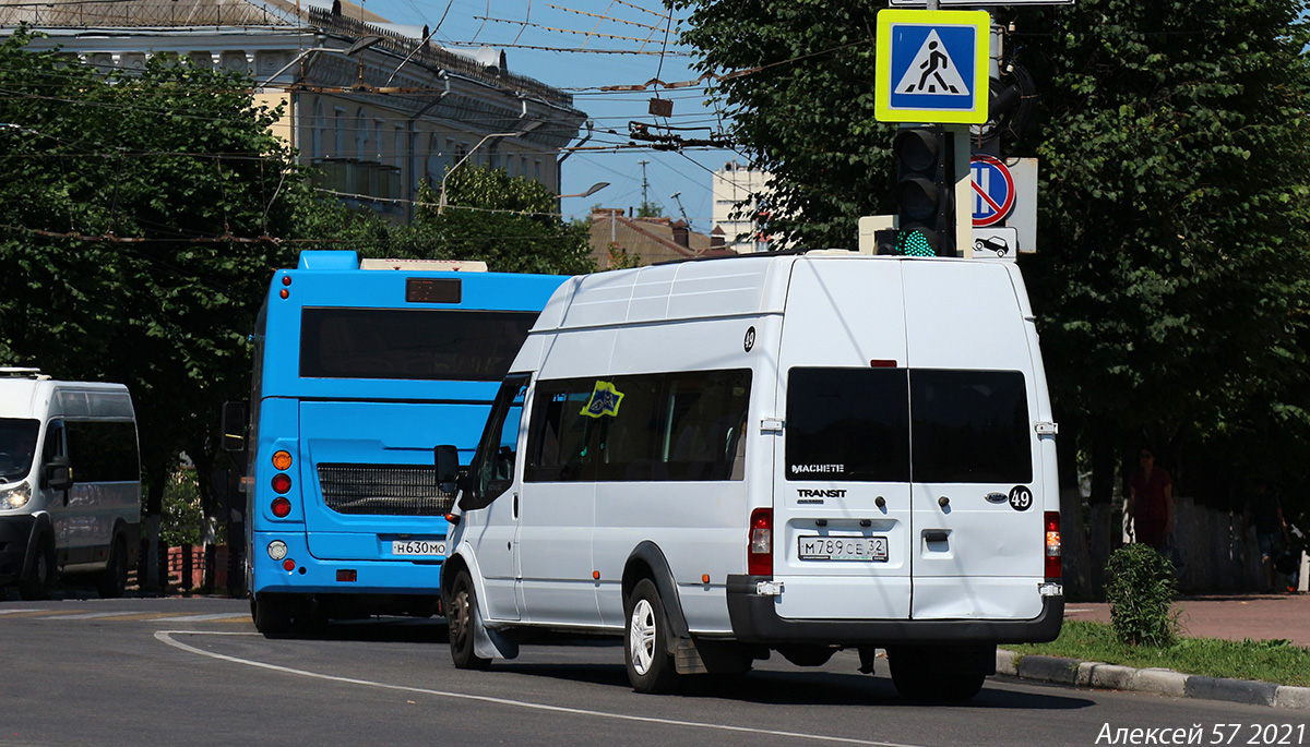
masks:
POLYGON ((440 517, 451 493, 436 487, 436 468, 418 464, 318 464, 324 502, 339 514, 440 517))

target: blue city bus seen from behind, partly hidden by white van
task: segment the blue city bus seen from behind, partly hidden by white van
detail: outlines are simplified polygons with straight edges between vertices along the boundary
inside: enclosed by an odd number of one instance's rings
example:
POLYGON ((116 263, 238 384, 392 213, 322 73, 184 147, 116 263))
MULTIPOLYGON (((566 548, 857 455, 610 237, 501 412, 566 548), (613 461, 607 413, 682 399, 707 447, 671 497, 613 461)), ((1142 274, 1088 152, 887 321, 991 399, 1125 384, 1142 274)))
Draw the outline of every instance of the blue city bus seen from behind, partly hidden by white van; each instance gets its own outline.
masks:
POLYGON ((468 463, 500 379, 563 281, 354 251, 304 251, 274 273, 242 440, 261 632, 439 612, 453 496, 436 484, 432 447, 455 443, 468 463))

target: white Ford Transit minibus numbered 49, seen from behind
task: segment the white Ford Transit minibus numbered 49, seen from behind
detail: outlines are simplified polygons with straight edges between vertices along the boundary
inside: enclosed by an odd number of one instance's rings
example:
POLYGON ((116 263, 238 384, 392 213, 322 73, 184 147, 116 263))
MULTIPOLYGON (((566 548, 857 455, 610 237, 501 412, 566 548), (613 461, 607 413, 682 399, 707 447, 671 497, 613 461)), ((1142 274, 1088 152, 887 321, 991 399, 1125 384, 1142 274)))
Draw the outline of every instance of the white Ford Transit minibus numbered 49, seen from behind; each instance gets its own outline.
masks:
POLYGON ((903 695, 963 699, 996 644, 1060 632, 1056 426, 1014 264, 574 277, 510 370, 441 573, 460 667, 534 629, 626 636, 643 692, 883 648, 903 695))

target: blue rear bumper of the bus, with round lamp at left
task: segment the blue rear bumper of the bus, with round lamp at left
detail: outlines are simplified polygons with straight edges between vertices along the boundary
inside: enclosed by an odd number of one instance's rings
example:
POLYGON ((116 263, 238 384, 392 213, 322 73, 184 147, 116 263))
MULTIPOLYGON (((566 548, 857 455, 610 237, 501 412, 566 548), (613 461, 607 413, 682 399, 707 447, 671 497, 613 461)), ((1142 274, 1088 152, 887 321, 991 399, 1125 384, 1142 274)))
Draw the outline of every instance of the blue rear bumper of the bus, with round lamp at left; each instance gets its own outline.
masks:
POLYGON ((257 531, 252 536, 250 591, 279 594, 426 594, 441 589, 441 561, 432 560, 320 560, 309 555, 303 532, 257 531), (269 557, 269 543, 287 543, 287 556, 269 557), (284 564, 295 565, 287 570, 284 564), (342 573, 338 573, 342 572, 342 573), (354 572, 354 574, 348 573, 354 572), (339 578, 350 578, 346 581, 339 578))

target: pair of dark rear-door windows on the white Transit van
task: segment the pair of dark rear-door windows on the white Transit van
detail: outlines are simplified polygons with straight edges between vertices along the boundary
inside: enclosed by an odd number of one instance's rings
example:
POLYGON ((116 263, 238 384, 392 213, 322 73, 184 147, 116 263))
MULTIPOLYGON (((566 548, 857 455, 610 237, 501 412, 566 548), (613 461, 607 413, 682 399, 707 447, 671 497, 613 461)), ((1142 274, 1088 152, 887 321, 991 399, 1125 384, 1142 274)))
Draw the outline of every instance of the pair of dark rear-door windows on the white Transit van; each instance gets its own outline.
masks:
POLYGON ((1020 372, 795 368, 787 479, 1028 483, 1020 372))

